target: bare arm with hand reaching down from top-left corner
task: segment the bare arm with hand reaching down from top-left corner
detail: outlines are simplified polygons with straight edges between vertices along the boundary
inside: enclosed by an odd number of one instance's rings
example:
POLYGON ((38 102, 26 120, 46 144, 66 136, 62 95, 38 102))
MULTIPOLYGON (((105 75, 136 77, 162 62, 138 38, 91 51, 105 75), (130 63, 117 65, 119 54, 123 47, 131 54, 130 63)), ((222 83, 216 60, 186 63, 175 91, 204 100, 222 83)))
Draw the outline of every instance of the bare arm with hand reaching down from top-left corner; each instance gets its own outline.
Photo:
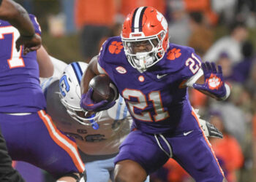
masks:
POLYGON ((34 32, 34 26, 29 19, 29 14, 20 4, 11 0, 2 0, 0 19, 7 20, 20 32, 20 37, 16 41, 16 49, 18 51, 20 50, 20 45, 24 45, 24 55, 39 49, 42 43, 41 37, 34 32))

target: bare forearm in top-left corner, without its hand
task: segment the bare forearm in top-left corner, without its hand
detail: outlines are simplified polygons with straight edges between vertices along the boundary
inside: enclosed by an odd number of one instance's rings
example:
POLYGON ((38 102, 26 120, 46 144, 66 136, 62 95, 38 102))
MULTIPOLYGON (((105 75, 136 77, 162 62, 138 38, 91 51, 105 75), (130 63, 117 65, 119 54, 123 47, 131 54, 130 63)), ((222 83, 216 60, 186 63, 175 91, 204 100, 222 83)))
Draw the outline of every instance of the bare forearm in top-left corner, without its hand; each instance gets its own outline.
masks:
POLYGON ((34 36, 34 26, 26 10, 11 0, 3 0, 0 7, 0 19, 7 20, 18 29, 21 36, 34 36))

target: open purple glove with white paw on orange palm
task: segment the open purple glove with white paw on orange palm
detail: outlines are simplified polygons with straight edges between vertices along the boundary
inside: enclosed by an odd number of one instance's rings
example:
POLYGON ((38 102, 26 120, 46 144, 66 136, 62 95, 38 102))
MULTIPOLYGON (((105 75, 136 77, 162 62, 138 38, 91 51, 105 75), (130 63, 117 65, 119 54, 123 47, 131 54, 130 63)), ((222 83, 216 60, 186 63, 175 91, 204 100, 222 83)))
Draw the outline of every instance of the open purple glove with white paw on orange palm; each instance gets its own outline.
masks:
POLYGON ((222 99, 225 98, 226 88, 225 82, 222 76, 222 67, 218 66, 216 69, 215 63, 202 63, 203 74, 205 83, 204 84, 193 84, 196 90, 210 93, 214 98, 222 99))

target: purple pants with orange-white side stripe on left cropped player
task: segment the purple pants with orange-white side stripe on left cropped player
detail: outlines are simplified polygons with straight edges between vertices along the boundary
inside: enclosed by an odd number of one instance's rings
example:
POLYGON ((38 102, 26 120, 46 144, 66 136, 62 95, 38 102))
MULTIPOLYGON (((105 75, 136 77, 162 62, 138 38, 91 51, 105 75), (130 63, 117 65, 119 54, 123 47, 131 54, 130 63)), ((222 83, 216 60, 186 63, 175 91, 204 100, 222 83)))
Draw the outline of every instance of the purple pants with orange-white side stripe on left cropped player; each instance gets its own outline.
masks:
POLYGON ((55 178, 83 173, 74 141, 56 129, 45 111, 26 116, 0 114, 0 124, 13 160, 29 162, 55 178))

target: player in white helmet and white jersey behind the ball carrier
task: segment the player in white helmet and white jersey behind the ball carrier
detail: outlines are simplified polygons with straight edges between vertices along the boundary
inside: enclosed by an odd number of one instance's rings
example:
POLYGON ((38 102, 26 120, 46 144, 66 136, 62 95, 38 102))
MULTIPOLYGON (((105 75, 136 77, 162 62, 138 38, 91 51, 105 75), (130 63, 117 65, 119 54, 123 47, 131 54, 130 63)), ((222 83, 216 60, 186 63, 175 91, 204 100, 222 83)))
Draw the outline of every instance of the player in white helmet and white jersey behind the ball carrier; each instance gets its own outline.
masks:
MULTIPOLYGON (((64 66, 61 60, 51 60, 55 76, 41 79, 48 114, 61 132, 75 138, 86 165, 87 181, 113 181, 114 157, 132 124, 124 98, 119 96, 108 110, 91 114, 83 112, 80 80, 88 64, 74 62, 64 66)), ((200 119, 200 125, 207 136, 222 138, 216 127, 208 122, 200 119)))

